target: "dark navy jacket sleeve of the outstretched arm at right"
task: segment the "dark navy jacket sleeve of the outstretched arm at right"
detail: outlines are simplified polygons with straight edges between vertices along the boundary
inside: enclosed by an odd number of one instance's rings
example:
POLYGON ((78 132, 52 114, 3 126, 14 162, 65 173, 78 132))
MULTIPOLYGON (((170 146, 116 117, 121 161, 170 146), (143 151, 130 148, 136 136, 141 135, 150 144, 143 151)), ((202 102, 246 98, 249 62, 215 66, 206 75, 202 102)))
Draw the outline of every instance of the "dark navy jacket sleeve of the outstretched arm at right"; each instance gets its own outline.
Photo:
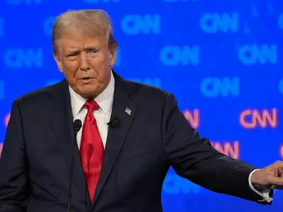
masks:
POLYGON ((250 189, 248 177, 257 167, 216 151, 192 129, 171 94, 163 105, 162 134, 168 161, 181 177, 213 192, 270 204, 250 189))

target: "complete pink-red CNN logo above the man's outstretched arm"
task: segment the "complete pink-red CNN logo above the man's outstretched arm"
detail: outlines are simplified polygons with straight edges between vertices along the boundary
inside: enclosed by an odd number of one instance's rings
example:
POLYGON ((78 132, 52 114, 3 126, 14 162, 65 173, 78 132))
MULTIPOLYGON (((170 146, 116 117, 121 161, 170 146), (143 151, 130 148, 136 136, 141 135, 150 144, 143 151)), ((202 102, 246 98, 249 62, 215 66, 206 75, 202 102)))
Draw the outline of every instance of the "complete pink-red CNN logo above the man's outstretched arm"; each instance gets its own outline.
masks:
POLYGON ((239 122, 246 129, 255 129, 257 127, 265 129, 267 126, 277 128, 278 110, 277 108, 272 108, 270 112, 267 109, 262 111, 246 109, 240 113, 239 122))

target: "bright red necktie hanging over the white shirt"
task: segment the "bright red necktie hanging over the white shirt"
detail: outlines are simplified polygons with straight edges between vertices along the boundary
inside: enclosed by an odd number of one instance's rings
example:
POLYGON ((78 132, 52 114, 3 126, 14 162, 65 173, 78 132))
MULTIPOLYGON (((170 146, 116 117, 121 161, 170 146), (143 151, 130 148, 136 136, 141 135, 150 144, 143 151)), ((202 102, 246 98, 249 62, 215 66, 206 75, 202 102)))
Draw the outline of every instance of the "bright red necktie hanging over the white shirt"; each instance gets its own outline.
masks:
POLYGON ((98 110, 99 106, 94 100, 86 101, 83 106, 88 109, 88 113, 83 122, 80 155, 84 176, 88 185, 88 193, 91 197, 91 202, 93 202, 100 175, 104 148, 96 124, 96 118, 93 115, 93 111, 98 110))

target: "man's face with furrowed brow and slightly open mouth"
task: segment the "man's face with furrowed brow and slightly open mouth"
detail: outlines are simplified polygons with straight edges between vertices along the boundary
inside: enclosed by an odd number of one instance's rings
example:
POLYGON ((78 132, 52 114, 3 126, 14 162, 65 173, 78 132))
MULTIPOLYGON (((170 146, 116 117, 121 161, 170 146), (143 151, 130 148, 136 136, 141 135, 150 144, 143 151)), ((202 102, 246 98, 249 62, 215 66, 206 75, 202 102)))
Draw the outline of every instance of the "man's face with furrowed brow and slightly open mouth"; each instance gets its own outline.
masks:
POLYGON ((83 98, 95 98, 108 86, 116 49, 108 50, 103 35, 65 32, 54 55, 59 71, 64 73, 71 88, 83 98))

